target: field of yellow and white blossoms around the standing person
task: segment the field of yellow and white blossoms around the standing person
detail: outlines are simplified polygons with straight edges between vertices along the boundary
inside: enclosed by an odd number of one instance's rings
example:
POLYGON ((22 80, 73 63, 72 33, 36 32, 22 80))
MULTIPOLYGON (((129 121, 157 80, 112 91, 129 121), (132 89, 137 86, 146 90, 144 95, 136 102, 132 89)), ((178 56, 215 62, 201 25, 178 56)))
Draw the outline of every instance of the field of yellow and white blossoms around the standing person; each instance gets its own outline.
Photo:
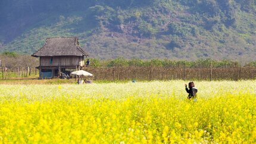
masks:
POLYGON ((255 143, 256 81, 0 85, 0 143, 255 143))

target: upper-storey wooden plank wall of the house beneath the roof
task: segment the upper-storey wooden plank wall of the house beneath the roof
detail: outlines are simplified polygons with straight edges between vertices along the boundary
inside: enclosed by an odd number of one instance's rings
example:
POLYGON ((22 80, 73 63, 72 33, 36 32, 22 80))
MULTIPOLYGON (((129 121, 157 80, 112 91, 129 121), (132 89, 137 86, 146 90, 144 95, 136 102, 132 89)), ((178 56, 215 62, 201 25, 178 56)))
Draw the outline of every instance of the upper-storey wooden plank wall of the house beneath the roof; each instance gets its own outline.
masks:
POLYGON ((84 57, 59 56, 59 57, 40 57, 40 66, 84 66, 84 57))

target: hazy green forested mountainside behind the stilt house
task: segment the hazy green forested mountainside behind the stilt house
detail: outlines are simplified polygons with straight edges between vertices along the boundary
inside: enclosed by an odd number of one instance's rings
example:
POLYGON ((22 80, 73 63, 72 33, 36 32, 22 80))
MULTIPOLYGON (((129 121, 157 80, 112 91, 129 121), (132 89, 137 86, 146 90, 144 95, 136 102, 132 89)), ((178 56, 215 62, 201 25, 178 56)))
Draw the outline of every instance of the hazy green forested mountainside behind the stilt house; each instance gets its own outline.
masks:
POLYGON ((9 0, 0 52, 79 37, 95 58, 256 60, 256 0, 9 0))

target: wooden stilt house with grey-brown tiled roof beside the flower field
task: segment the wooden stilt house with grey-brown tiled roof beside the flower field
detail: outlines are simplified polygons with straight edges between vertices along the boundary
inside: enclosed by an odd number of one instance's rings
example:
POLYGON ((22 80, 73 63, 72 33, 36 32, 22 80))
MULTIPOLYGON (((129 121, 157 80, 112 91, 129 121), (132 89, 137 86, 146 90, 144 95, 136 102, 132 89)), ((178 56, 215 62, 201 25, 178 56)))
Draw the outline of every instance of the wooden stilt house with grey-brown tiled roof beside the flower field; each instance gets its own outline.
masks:
POLYGON ((40 79, 60 76, 66 68, 80 70, 89 55, 79 46, 77 37, 47 38, 45 45, 32 57, 40 58, 40 79))

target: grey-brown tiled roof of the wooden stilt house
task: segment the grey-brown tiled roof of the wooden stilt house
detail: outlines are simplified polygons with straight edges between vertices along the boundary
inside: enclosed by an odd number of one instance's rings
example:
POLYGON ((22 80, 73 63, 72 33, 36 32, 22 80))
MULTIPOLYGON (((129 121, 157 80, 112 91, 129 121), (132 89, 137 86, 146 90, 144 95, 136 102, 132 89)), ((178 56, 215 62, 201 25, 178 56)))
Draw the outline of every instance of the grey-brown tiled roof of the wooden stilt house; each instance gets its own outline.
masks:
POLYGON ((57 37, 47 38, 45 45, 35 52, 33 57, 53 57, 53 56, 89 56, 83 48, 79 46, 77 37, 57 37))

